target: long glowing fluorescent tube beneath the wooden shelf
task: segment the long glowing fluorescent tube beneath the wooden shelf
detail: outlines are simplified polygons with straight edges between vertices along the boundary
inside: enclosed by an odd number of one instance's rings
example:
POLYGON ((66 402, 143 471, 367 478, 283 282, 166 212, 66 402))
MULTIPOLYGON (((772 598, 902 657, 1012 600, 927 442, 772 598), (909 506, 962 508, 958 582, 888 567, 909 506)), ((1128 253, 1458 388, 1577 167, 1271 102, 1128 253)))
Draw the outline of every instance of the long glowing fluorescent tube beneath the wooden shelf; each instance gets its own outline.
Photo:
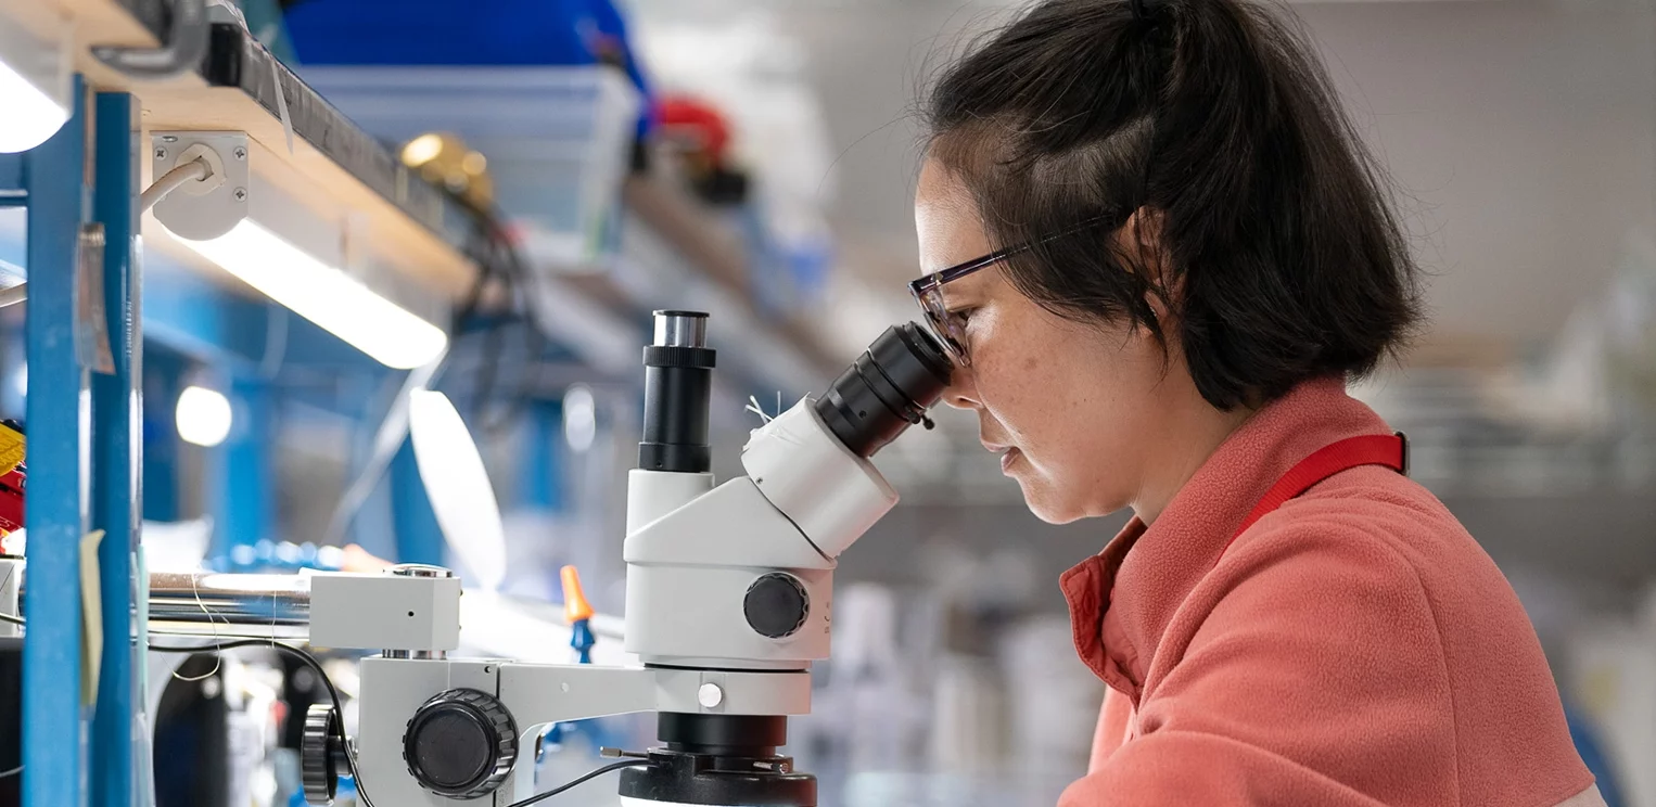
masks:
POLYGON ((409 370, 442 356, 449 334, 379 296, 336 266, 252 218, 207 241, 179 238, 270 299, 316 322, 386 367, 409 370))

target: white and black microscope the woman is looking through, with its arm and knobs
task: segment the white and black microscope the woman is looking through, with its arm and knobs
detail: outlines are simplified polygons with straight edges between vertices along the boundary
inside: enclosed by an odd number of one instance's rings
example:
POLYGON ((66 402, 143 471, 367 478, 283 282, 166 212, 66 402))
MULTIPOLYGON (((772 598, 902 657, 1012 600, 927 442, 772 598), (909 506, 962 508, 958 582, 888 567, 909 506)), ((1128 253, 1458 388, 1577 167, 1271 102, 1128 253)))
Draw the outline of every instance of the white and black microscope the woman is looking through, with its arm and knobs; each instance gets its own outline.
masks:
MULTIPOLYGON (((644 347, 644 435, 628 476, 626 632, 639 666, 450 658, 460 580, 399 566, 310 580, 315 647, 361 661, 354 766, 389 805, 522 807, 535 799, 540 731, 558 721, 657 713, 659 747, 613 752, 624 805, 815 807, 816 779, 778 754, 810 711, 810 665, 828 657, 836 557, 896 503, 869 458, 949 384, 936 339, 886 329, 821 397, 753 430, 747 476, 715 483, 707 314, 659 311, 644 347)), ((306 716, 301 767, 328 804, 351 754, 339 716, 306 716)))

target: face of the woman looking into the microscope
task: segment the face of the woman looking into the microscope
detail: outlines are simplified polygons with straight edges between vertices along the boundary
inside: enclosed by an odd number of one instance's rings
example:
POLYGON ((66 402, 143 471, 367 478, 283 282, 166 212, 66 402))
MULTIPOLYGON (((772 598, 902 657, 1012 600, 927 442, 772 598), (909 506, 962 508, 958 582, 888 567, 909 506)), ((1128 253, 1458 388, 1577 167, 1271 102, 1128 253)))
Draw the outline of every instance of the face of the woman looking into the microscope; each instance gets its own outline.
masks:
MULTIPOLYGON (((926 273, 995 248, 970 193, 932 160, 921 172, 914 223, 926 273)), ((1158 446, 1189 440, 1179 425, 1206 407, 1176 347, 1164 352, 1143 329, 1058 318, 995 268, 949 283, 944 299, 965 316, 972 362, 944 400, 977 412, 984 446, 1002 453, 1004 473, 1038 518, 1103 516, 1158 496, 1149 488, 1163 478, 1176 489, 1194 473, 1156 466, 1158 446)))

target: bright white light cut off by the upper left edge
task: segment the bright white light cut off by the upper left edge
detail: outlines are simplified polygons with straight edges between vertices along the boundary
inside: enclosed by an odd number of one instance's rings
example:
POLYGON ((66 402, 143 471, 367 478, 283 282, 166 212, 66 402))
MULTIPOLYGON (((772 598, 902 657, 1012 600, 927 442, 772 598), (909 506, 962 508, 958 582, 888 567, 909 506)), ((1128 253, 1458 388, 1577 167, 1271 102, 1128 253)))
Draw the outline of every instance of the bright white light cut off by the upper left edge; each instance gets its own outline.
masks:
POLYGON ((0 154, 30 150, 70 119, 68 69, 50 48, 7 23, 0 28, 0 154))

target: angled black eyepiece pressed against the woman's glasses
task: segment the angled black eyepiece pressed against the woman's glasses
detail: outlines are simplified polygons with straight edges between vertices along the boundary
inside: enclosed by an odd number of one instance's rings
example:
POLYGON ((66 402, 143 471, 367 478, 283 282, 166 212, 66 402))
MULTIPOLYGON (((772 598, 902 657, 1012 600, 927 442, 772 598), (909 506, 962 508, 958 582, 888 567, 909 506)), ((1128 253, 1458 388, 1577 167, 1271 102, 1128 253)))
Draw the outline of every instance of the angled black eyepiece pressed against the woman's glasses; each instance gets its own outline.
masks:
POLYGON ((924 327, 893 326, 816 400, 816 413, 846 448, 874 456, 904 428, 926 420, 952 370, 924 327))

